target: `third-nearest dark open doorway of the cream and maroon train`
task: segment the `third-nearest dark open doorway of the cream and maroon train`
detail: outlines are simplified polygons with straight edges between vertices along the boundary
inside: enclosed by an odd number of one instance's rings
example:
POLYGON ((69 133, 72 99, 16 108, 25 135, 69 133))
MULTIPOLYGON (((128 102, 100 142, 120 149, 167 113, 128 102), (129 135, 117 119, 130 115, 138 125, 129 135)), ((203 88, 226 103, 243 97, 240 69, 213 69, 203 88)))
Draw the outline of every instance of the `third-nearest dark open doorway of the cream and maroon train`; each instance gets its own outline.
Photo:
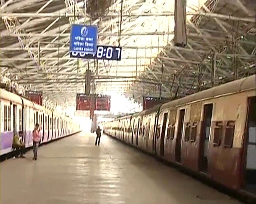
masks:
POLYGON ((179 115, 178 133, 177 133, 176 146, 175 146, 176 162, 180 162, 181 160, 181 141, 182 141, 183 126, 184 126, 184 117, 185 117, 185 109, 182 109, 180 110, 180 115, 179 115))

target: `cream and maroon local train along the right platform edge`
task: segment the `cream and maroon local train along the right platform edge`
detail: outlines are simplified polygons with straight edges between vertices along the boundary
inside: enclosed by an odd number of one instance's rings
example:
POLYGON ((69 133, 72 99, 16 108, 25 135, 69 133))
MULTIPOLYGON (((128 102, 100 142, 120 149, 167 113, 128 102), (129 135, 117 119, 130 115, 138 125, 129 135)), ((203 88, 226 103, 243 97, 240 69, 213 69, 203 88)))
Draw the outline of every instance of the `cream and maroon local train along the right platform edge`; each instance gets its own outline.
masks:
POLYGON ((103 124, 103 132, 228 189, 255 193, 255 75, 103 124))

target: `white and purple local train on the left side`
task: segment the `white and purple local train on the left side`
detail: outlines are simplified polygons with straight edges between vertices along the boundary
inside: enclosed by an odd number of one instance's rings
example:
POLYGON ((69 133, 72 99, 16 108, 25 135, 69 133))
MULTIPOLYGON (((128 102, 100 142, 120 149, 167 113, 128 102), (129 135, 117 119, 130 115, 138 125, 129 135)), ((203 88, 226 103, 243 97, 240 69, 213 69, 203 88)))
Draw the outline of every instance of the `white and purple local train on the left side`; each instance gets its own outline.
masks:
POLYGON ((13 137, 20 130, 23 132, 22 141, 26 148, 33 146, 32 132, 36 123, 41 126, 41 143, 74 134, 80 129, 71 118, 4 89, 0 89, 0 108, 0 156, 13 151, 13 137))

